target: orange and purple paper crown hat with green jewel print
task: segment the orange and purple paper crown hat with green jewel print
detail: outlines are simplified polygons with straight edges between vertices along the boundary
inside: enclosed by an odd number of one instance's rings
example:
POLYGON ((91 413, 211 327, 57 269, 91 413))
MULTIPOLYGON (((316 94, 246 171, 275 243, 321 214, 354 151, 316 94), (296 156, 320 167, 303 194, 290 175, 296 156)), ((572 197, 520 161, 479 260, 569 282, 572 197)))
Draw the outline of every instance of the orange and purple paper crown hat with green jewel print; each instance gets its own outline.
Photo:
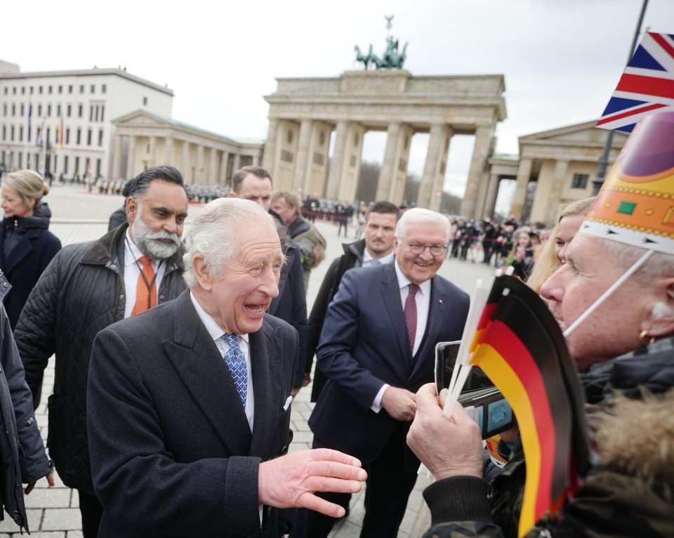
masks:
POLYGON ((674 112, 635 126, 581 232, 674 254, 674 112))

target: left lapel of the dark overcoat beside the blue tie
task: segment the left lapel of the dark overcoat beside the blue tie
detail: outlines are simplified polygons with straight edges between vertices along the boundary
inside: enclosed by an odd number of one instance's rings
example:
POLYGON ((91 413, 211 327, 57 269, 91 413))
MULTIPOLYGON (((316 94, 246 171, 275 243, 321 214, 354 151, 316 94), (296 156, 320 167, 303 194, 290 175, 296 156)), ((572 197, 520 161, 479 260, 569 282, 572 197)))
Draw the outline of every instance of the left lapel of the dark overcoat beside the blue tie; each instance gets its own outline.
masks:
POLYGON ((208 417, 227 452, 248 454, 251 430, 241 399, 225 360, 194 310, 189 289, 176 300, 173 333, 175 341, 164 341, 164 347, 187 391, 208 417))

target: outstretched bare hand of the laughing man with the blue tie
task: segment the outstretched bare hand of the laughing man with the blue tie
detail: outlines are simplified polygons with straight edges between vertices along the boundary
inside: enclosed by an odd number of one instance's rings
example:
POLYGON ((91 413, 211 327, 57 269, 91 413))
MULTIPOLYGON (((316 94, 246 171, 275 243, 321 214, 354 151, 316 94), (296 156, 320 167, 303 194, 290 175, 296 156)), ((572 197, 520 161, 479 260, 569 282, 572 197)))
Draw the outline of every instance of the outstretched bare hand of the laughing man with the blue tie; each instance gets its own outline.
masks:
POLYGON ((314 493, 356 493, 366 478, 361 462, 348 454, 328 448, 298 450, 260 464, 258 500, 276 508, 308 508, 341 518, 342 506, 314 493))

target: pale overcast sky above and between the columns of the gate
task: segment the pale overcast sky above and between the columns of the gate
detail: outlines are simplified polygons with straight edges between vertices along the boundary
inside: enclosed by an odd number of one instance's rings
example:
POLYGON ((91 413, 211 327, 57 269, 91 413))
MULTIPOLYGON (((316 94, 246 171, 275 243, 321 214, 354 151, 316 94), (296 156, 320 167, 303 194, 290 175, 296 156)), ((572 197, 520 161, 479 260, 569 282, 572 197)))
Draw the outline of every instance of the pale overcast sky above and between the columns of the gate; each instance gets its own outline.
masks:
MULTIPOLYGON (((517 137, 598 117, 626 64, 643 0, 338 0, 5 2, 0 58, 24 72, 126 67, 175 92, 173 117, 234 138, 267 136, 277 77, 359 69, 354 46, 381 54, 409 42, 413 75, 504 74, 508 118, 497 152, 517 137), (8 21, 12 21, 9 23, 8 21)), ((642 29, 674 33, 674 1, 650 0, 642 29)), ((421 175, 427 135, 413 139, 421 175)), ((381 162, 383 133, 364 158, 381 162)), ((461 194, 472 137, 454 137, 445 188, 461 194)))

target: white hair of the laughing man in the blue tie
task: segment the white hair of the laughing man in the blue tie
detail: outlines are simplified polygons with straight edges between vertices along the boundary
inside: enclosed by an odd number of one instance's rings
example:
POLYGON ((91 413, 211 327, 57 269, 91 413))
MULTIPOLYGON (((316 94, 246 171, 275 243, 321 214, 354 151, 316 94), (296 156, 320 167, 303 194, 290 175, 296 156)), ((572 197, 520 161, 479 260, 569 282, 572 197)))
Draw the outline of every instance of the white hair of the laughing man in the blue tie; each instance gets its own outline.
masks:
POLYGON ((269 226, 276 231, 274 218, 251 200, 218 198, 209 202, 194 219, 185 236, 185 284, 197 285, 192 261, 194 256, 204 256, 206 268, 215 278, 223 277, 223 266, 237 254, 237 230, 243 226, 255 228, 269 226))

